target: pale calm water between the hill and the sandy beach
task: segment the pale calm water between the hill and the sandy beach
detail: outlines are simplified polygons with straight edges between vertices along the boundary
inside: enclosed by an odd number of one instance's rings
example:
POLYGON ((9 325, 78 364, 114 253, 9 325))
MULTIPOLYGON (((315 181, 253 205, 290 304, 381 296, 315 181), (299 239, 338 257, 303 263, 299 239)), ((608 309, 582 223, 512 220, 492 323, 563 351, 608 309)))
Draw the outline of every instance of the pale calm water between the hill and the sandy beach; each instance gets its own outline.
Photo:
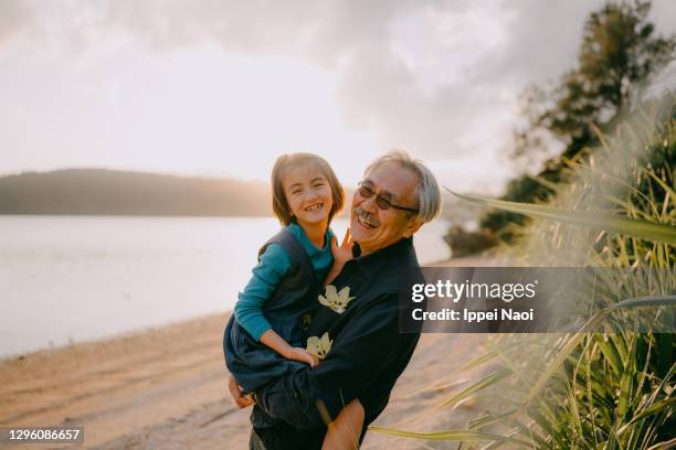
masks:
MULTIPOLYGON (((342 237, 347 219, 334 222, 342 237)), ((436 221, 421 264, 448 257, 436 221)), ((0 356, 115 335, 233 308, 267 217, 0 216, 0 356)))

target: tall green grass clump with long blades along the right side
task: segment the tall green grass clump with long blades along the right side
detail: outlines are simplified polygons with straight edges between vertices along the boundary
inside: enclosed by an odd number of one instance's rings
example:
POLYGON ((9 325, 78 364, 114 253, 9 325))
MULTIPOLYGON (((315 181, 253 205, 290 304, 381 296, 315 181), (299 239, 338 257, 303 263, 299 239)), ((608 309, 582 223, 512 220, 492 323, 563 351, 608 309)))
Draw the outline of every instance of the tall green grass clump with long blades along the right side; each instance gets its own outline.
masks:
POLYGON ((506 249, 515 266, 627 269, 609 272, 616 277, 605 280, 612 291, 599 296, 589 326, 537 339, 495 336, 467 365, 493 372, 461 392, 484 409, 466 430, 376 431, 486 449, 676 448, 676 334, 613 326, 616 313, 633 314, 647 329, 657 319, 676 325, 674 96, 636 108, 599 140, 599 148, 564 161, 574 181, 550 186, 556 195, 548 204, 465 196, 534 218, 506 249), (640 270, 657 276, 621 275, 640 270), (589 332, 602 323, 605 331, 589 332))

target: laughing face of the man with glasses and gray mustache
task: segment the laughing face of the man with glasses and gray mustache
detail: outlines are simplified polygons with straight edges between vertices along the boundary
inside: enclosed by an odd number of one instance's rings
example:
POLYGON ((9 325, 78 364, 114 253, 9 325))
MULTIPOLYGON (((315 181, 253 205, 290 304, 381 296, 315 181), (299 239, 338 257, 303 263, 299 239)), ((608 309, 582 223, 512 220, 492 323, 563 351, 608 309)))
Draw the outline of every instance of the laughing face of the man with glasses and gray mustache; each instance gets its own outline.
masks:
MULTIPOLYGON (((418 175, 399 163, 389 162, 369 173, 363 183, 376 194, 387 196, 392 204, 418 208, 415 191, 418 175)), ((365 199, 359 190, 352 197, 350 232, 352 239, 361 247, 361 254, 368 255, 388 247, 402 237, 413 235, 422 225, 415 213, 390 207, 381 210, 377 195, 365 199)))

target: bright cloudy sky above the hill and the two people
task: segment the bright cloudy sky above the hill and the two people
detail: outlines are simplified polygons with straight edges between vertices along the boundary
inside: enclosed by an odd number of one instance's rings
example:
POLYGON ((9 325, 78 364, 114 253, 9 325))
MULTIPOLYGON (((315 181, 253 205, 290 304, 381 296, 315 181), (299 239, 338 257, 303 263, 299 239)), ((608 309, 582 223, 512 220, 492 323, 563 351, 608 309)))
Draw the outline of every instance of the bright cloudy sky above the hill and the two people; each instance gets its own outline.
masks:
MULTIPOLYGON (((517 95, 574 64, 589 0, 0 2, 0 174, 112 168, 345 183, 405 148, 496 192, 517 95)), ((662 33, 673 0, 654 2, 662 33)))

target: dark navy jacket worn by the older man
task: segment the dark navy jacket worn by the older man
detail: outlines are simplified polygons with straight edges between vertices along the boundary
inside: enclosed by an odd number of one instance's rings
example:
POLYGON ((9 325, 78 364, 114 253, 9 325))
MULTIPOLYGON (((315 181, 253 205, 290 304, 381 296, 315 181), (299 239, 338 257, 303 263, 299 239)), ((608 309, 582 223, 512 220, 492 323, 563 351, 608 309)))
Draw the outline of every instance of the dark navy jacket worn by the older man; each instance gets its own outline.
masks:
POLYGON ((399 332, 400 296, 405 301, 409 287, 418 282, 424 279, 412 238, 345 265, 308 329, 308 336, 317 338, 328 331, 332 343, 325 360, 255 393, 252 424, 267 449, 321 448, 326 424, 355 398, 366 414, 363 439, 366 427, 384 409, 418 344, 420 329, 399 332), (327 299, 349 302, 342 310, 326 306, 327 299))

